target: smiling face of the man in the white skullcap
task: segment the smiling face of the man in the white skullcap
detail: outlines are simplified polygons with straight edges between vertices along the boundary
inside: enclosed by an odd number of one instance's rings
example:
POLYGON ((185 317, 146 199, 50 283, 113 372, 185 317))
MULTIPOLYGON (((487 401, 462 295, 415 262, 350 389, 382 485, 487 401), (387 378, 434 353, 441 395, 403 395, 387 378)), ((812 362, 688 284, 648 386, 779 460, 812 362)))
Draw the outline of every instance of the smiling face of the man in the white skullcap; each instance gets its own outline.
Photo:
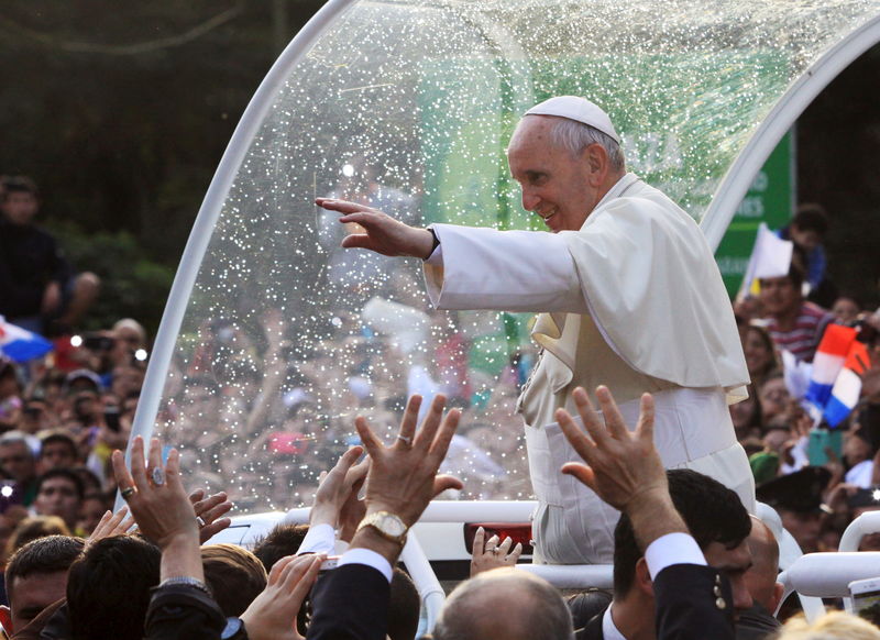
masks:
POLYGON ((540 216, 553 233, 578 231, 601 199, 587 161, 553 144, 552 117, 528 115, 507 148, 510 175, 522 189, 522 208, 540 216))

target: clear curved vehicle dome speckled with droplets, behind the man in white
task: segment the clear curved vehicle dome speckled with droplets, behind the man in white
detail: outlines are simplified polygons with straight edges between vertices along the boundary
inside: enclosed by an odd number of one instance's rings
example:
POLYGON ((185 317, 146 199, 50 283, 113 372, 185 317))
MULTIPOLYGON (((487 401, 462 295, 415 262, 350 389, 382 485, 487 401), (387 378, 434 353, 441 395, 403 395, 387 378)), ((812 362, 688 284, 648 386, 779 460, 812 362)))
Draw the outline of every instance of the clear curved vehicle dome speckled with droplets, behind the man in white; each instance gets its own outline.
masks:
POLYGON ((877 42, 880 1, 331 0, 248 108, 199 212, 135 433, 239 512, 308 500, 367 416, 464 410, 460 499, 528 499, 515 415, 529 318, 438 311, 417 260, 343 251, 334 196, 406 222, 540 229, 505 147, 556 95, 602 106, 627 163, 717 244, 809 99, 877 42), (860 38, 860 40, 859 40, 860 38))

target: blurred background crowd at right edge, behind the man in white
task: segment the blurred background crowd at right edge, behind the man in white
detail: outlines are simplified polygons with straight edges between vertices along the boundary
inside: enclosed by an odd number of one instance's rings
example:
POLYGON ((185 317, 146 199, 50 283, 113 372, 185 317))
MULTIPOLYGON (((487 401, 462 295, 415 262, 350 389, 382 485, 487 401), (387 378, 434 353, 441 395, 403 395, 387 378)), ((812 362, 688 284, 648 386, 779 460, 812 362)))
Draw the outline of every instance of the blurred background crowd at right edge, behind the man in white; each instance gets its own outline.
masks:
MULTIPOLYGON (((880 508, 880 313, 831 282, 827 230, 821 207, 801 207, 779 232, 794 243, 789 274, 760 280, 759 293, 735 302, 751 385, 732 418, 758 499, 779 511, 804 552, 836 551, 857 516, 880 508), (832 324, 855 328, 870 358, 858 402, 834 429, 811 410, 801 373, 832 324)), ((880 550, 880 537, 862 549, 880 550)))

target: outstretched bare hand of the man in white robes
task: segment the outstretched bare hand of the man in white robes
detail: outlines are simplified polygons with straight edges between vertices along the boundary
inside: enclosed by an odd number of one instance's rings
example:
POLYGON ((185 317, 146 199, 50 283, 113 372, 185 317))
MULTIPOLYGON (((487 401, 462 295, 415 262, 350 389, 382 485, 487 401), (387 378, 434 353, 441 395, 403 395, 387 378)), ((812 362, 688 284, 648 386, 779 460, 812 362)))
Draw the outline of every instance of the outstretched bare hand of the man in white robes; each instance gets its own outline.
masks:
POLYGON ((427 258, 433 251, 433 235, 427 229, 409 227, 377 209, 355 202, 318 198, 318 207, 339 211, 340 223, 360 224, 363 233, 352 233, 342 239, 345 249, 369 249, 382 255, 427 258))

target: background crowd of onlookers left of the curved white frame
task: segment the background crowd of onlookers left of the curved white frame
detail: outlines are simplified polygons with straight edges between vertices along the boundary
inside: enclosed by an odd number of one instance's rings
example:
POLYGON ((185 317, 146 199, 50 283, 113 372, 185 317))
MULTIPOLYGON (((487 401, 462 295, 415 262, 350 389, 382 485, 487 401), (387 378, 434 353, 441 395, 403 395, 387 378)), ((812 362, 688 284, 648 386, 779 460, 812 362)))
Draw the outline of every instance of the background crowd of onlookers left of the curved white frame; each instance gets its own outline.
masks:
POLYGON ((53 342, 50 353, 26 362, 0 355, 4 561, 38 536, 88 536, 112 505, 110 453, 128 442, 148 344, 131 318, 77 334, 99 279, 77 274, 35 223, 40 194, 32 180, 4 177, 0 202, 0 317, 53 342))

